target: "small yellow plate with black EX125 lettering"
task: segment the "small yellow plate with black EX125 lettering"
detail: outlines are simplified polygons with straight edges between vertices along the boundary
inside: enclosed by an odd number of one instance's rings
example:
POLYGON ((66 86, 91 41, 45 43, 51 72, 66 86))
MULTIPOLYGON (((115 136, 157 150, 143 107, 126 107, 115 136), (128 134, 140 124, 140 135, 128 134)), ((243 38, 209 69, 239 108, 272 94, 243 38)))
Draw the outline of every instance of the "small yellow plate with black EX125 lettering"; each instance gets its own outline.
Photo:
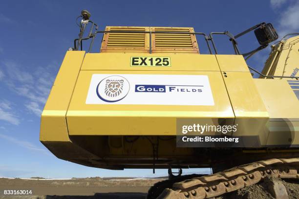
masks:
POLYGON ((130 66, 171 66, 170 57, 131 57, 130 66))

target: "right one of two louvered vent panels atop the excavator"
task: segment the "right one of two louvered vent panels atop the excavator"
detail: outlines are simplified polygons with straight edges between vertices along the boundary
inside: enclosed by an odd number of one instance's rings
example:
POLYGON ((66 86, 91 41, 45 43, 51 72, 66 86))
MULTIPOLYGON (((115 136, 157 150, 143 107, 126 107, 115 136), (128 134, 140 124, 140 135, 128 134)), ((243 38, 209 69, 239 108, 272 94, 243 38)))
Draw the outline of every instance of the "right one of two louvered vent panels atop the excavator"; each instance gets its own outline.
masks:
POLYGON ((153 32, 178 32, 177 34, 152 34, 152 52, 199 52, 195 35, 179 34, 179 32, 194 32, 193 28, 151 27, 150 30, 153 32))

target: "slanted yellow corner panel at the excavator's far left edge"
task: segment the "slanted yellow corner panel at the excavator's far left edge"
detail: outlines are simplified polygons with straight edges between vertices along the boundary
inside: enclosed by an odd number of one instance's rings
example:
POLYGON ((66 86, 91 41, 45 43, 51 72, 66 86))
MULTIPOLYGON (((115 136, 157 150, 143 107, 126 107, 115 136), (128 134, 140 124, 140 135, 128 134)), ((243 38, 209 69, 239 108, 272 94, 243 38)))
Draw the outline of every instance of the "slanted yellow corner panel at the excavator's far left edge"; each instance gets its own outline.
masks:
POLYGON ((69 141, 65 114, 84 55, 85 51, 67 51, 44 106, 41 141, 69 141))

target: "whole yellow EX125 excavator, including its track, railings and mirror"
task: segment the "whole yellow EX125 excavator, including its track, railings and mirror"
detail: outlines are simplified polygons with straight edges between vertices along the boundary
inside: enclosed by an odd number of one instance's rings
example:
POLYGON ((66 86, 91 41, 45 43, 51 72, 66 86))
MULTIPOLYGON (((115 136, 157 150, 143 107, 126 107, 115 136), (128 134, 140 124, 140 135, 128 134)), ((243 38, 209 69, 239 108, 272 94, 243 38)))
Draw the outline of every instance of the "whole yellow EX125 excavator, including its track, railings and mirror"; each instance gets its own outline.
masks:
POLYGON ((98 31, 86 10, 78 19, 79 38, 41 118, 40 140, 56 157, 104 169, 168 169, 148 199, 213 198, 265 176, 299 179, 299 33, 271 46, 260 73, 246 60, 278 39, 271 23, 234 36, 191 27, 98 31), (259 47, 241 53, 237 38, 251 31, 259 47), (97 35, 100 52, 90 53, 97 35), (227 37, 235 54, 218 54, 215 35, 227 37), (200 53, 199 37, 209 54, 200 53), (181 175, 206 167, 214 174, 181 175))

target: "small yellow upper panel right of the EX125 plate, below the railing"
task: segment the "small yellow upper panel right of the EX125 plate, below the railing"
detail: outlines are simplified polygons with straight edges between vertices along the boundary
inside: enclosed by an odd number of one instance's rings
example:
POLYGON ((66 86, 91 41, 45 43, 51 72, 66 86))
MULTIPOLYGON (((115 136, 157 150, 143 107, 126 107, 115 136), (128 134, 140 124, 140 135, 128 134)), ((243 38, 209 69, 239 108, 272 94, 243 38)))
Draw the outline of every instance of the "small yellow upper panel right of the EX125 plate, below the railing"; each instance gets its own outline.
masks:
POLYGON ((242 55, 215 55, 221 71, 249 72, 242 55))

